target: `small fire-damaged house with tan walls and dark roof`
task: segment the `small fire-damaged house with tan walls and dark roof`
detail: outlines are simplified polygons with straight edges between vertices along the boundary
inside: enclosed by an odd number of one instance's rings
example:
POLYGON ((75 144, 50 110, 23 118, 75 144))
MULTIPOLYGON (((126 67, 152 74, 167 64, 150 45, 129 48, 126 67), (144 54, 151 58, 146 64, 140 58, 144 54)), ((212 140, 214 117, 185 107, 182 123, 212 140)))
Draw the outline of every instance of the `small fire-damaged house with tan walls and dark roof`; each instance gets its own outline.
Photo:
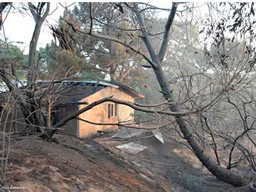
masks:
MULTIPOLYGON (((54 82, 49 89, 49 83, 38 82, 37 95, 43 101, 46 113, 51 114, 49 121, 51 124, 59 122, 69 114, 73 114, 85 107, 87 104, 100 100, 104 97, 113 96, 119 100, 134 102, 136 97, 144 98, 139 92, 133 90, 127 85, 114 85, 108 82, 100 81, 58 81, 54 82), (46 88, 47 87, 47 88, 46 88), (50 90, 50 93, 46 92, 50 90)), ((12 127, 14 131, 25 129, 25 123, 22 121, 21 112, 16 112, 14 121, 6 127, 12 127)), ((93 107, 91 110, 83 112, 76 119, 70 120, 63 132, 75 135, 76 137, 87 137, 97 131, 109 132, 117 129, 118 122, 125 122, 134 119, 134 110, 125 105, 119 105, 113 102, 105 102, 93 107), (85 121, 83 121, 84 119, 85 121)))

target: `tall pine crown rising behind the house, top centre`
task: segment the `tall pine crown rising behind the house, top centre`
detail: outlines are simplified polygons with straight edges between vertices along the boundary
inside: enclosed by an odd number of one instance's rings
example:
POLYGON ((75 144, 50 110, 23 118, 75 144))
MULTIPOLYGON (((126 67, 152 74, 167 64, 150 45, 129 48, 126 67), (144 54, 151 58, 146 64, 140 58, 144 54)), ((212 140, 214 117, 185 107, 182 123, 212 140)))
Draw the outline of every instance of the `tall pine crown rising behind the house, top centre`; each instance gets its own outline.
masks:
MULTIPOLYGON (((119 31, 117 28, 129 29, 133 28, 132 15, 129 11, 120 13, 109 3, 93 3, 92 11, 94 13, 94 26, 97 26, 97 31, 102 35, 114 36, 122 41, 127 41, 134 47, 139 42, 137 31, 119 31)), ((75 6, 73 11, 65 11, 64 16, 68 22, 73 23, 75 28, 81 31, 90 30, 90 8, 89 3, 80 3, 75 6)), ((65 22, 60 21, 63 28, 68 28, 65 22)), ((129 48, 106 41, 104 39, 94 38, 82 33, 75 33, 71 28, 68 28, 69 33, 75 40, 75 50, 80 58, 86 58, 90 68, 95 71, 100 71, 109 77, 113 82, 129 83, 129 78, 142 63, 142 58, 134 54, 129 48)), ((143 73, 141 74, 143 75, 143 73)), ((135 76, 137 78, 139 76, 135 76)))

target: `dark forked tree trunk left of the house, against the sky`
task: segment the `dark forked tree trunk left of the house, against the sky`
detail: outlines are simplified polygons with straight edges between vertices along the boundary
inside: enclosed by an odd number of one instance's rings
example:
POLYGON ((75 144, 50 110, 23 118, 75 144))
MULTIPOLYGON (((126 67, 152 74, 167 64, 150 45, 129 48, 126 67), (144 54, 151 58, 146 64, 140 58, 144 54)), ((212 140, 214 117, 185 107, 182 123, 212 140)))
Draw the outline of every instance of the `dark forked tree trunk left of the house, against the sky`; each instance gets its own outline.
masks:
MULTIPOLYGON (((0 9, 4 9, 8 3, 1 3, 0 9)), ((46 17, 50 11, 50 3, 38 3, 37 6, 32 3, 28 3, 29 10, 33 15, 36 26, 33 31, 33 36, 31 43, 29 45, 28 53, 28 76, 27 76, 27 85, 26 90, 20 89, 15 82, 9 78, 9 75, 6 73, 6 69, 1 69, 1 79, 4 80, 6 85, 9 87, 9 91, 13 92, 14 97, 17 100, 18 105, 21 107, 23 112, 23 117, 28 124, 28 127, 33 127, 33 129, 45 132, 43 129, 46 127, 46 117, 43 114, 40 103, 35 98, 35 81, 36 81, 36 46, 38 44, 38 38, 41 31, 41 26, 46 20, 46 17)), ((1 11, 1 10, 0 10, 1 11)), ((14 74, 13 74, 14 75, 14 74)))

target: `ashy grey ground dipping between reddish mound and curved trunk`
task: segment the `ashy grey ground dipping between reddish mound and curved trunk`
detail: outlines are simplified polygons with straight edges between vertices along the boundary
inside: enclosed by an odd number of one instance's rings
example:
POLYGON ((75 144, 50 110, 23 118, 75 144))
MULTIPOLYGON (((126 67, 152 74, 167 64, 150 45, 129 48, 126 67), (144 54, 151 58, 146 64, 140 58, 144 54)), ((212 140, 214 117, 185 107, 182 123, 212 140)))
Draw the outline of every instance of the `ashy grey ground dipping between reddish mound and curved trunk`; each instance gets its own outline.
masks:
MULTIPOLYGON (((142 137, 143 138, 143 137, 142 137)), ((136 156, 119 152, 114 146, 118 142, 96 139, 115 154, 122 154, 124 159, 133 161, 141 170, 151 171, 154 176, 161 176, 164 182, 170 182, 176 192, 246 192, 247 186, 235 188, 216 179, 205 169, 196 156, 185 146, 167 141, 161 144, 155 137, 132 139, 133 142, 148 146, 136 156), (112 143, 112 144, 111 144, 112 143)))

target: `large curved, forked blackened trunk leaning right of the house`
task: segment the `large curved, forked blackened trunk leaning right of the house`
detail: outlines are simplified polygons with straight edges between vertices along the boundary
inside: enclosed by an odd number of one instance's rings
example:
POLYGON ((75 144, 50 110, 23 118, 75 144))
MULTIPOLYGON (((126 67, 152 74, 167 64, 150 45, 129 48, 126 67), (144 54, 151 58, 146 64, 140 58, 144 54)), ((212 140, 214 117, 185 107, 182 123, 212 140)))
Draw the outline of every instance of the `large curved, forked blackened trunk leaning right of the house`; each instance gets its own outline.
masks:
MULTIPOLYGON (((169 41, 169 29, 171 28, 171 24, 174 21, 174 16, 176 14, 177 4, 174 3, 173 7, 171 9, 171 12, 169 14, 169 19, 166 23, 166 31, 164 33, 164 39, 161 45, 161 49, 159 51, 159 54, 156 55, 153 46, 151 45, 151 42, 149 41, 148 34, 146 33, 145 25, 143 18, 139 12, 139 8, 137 3, 134 3, 134 12, 137 16, 138 22, 140 26, 142 26, 142 40, 144 41, 147 50, 149 51, 150 57, 151 57, 151 67, 154 70, 154 73, 156 75, 156 78, 159 82, 159 85, 161 87, 162 92, 164 92, 164 97, 169 102, 175 102, 174 95, 172 94, 169 84, 164 77, 163 70, 161 68, 161 61, 164 59, 164 55, 166 53, 167 44, 169 41)), ((180 107, 178 105, 171 105, 170 107, 172 112, 180 112, 180 107)), ((224 181, 226 183, 230 183, 233 186, 245 186, 248 183, 248 179, 245 178, 245 176, 242 176, 234 171, 229 171, 227 169, 224 169, 223 167, 216 164, 215 161, 210 159, 210 156, 206 154, 206 151, 203 150, 201 145, 198 143, 196 138, 193 135, 193 132, 190 127, 188 127, 188 124, 183 120, 183 117, 176 117, 176 122, 181 129, 181 132, 183 133, 183 138, 186 139, 188 144, 193 149, 194 153, 198 157, 198 159, 202 162, 204 166, 218 179, 221 181, 224 181)))

